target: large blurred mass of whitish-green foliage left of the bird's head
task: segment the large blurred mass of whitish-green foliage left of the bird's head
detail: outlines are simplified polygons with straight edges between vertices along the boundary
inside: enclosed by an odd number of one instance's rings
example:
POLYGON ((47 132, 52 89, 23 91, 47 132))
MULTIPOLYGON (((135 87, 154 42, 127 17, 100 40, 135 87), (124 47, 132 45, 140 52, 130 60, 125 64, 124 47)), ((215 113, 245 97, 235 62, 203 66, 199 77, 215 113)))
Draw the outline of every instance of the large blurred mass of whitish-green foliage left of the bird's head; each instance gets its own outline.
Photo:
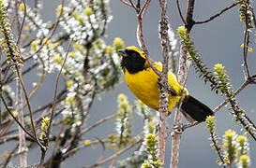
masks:
MULTIPOLYGON (((102 39, 112 19, 106 0, 70 0, 67 6, 57 7, 56 18, 60 17, 63 29, 52 39, 48 37, 55 23, 43 22, 38 12, 41 7, 40 3, 33 9, 26 6, 24 25, 31 35, 37 32, 36 38, 28 43, 29 54, 34 55, 38 68, 46 74, 54 73, 63 66, 62 76, 66 79, 68 93, 61 103, 64 107, 62 114, 65 124, 75 128, 83 124, 95 94, 113 89, 120 81, 117 49, 123 49, 124 42, 115 38, 113 46, 108 46, 102 39), (74 43, 64 64, 69 38, 74 43)), ((23 16, 23 4, 19 12, 23 16)))

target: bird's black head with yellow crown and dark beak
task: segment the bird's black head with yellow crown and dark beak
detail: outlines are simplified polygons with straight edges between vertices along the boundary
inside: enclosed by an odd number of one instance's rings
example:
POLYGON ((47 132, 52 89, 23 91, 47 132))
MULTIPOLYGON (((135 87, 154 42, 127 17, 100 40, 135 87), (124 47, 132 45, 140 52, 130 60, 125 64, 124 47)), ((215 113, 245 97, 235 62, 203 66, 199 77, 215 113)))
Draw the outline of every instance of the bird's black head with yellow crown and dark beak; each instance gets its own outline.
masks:
POLYGON ((128 47, 124 50, 118 50, 118 52, 122 55, 121 67, 123 70, 127 69, 128 73, 135 74, 146 69, 144 66, 146 60, 140 49, 128 47))

